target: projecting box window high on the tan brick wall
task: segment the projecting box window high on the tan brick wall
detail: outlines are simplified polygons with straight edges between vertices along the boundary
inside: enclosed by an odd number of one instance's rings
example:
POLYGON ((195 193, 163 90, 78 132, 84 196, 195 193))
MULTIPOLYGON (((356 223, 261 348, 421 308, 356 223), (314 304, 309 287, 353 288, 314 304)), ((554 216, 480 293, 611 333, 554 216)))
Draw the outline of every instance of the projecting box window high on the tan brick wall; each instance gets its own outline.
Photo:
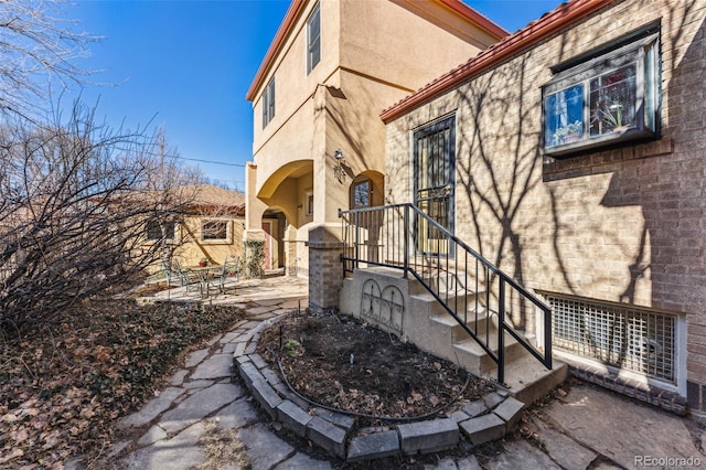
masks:
POLYGON ((654 139, 659 126, 659 32, 640 32, 554 68, 543 89, 544 153, 654 139))

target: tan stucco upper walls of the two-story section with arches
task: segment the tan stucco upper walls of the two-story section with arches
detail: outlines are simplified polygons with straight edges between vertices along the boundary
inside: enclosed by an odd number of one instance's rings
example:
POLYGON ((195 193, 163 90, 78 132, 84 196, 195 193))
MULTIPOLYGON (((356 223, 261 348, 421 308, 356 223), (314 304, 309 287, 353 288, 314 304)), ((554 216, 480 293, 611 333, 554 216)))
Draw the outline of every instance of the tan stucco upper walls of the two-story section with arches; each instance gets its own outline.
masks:
MULTIPOLYGON (((320 1, 321 62, 307 75, 306 21, 315 3, 307 3, 253 103, 257 171, 248 199, 257 195, 269 205, 292 200, 272 197, 281 169, 310 160, 321 209, 313 222, 325 223, 347 206, 347 184, 332 179, 333 152, 343 150, 349 183, 366 170, 382 173, 385 130, 379 113, 495 39, 432 1, 320 1), (275 117, 263 128, 261 93, 271 77, 275 117)), ((302 222, 309 221, 297 221, 299 226, 302 222)))

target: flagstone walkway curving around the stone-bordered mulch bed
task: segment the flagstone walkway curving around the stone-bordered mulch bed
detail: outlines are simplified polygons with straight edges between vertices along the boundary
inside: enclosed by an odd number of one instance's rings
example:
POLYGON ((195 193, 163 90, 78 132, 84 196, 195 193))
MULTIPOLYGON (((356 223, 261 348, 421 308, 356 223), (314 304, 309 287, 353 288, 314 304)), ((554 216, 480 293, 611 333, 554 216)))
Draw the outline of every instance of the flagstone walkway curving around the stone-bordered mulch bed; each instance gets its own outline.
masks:
MULTIPOLYGON (((172 289, 169 296, 171 300, 196 300, 193 292, 180 289, 172 289)), ((165 293, 160 292, 159 297, 164 298, 165 293)), ((232 381, 233 353, 249 340, 253 329, 289 312, 300 302, 306 307, 306 281, 286 277, 244 281, 227 296, 205 300, 242 306, 246 319, 232 331, 212 339, 206 348, 192 352, 169 386, 142 409, 118 421, 118 426, 132 430, 133 439, 114 446, 113 463, 136 470, 195 468, 211 458, 203 438, 223 432, 222 437, 233 436, 234 442, 242 442, 255 470, 340 468, 342 461, 314 458, 308 449, 296 448, 280 438, 269 418, 258 413, 246 388, 232 381)), ((532 439, 506 440, 504 450, 484 462, 485 468, 574 470, 650 466, 645 463, 654 468, 687 468, 688 464, 680 463, 688 462, 706 466, 702 450, 706 436, 693 421, 590 386, 574 386, 560 400, 536 410, 528 426, 532 439)), ((213 468, 240 468, 236 461, 221 459, 213 468)), ((469 451, 462 457, 440 456, 436 463, 424 468, 481 467, 469 451)))

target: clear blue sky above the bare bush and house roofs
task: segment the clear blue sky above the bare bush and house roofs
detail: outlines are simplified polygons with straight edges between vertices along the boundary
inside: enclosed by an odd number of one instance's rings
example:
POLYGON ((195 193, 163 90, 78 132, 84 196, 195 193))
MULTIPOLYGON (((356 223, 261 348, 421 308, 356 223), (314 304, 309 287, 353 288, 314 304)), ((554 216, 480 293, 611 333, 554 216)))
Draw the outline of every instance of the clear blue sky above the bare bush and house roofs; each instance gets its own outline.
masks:
MULTIPOLYGON (((510 32, 560 2, 467 0, 510 32)), ((243 190, 253 139, 245 94, 288 7, 289 0, 78 0, 65 17, 104 38, 79 64, 101 71, 92 82, 114 84, 86 86, 82 99, 99 99, 97 115, 115 127, 163 126, 169 142, 191 159, 185 163, 243 190)))

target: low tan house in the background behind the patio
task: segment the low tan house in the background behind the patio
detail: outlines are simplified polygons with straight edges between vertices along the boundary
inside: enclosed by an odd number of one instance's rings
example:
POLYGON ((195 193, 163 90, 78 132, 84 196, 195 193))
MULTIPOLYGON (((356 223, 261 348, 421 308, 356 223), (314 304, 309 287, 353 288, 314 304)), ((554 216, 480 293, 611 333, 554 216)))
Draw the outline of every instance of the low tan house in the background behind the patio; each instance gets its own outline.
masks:
POLYGON ((183 266, 201 260, 223 264, 226 257, 243 256, 245 195, 211 184, 179 190, 188 201, 183 210, 171 221, 148 222, 145 243, 161 243, 164 233, 170 256, 183 266))

